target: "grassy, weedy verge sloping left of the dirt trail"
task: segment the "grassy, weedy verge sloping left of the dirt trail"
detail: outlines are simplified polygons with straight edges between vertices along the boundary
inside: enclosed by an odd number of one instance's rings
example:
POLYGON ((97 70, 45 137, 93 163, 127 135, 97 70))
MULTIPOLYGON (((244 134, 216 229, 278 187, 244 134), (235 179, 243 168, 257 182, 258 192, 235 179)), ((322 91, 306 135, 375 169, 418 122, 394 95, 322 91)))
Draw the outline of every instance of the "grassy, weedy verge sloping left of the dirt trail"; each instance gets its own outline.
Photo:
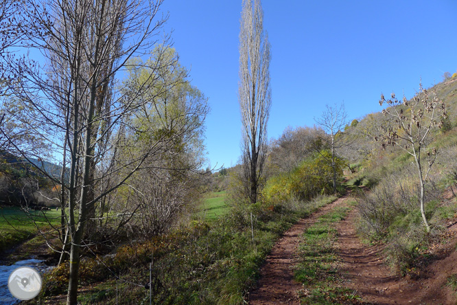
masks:
MULTIPOLYGON (((186 228, 143 243, 121 247, 113 258, 84 260, 81 304, 149 304, 144 285, 152 268, 152 304, 244 304, 244 297, 259 276, 259 267, 274 242, 298 218, 335 200, 321 197, 270 209, 254 208, 254 240, 250 213, 231 209, 219 221, 194 221, 186 228), (122 295, 116 303, 117 294, 122 295)), ((250 210, 247 210, 248 212, 250 210)), ((68 266, 47 275, 46 295, 63 293, 68 266)))

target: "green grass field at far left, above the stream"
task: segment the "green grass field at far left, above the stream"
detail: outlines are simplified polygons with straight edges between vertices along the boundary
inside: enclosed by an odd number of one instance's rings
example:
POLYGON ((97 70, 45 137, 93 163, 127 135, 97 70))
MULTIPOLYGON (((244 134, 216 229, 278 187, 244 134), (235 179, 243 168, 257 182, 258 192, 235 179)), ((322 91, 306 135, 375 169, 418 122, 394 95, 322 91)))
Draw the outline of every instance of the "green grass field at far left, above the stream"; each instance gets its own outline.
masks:
POLYGON ((49 229, 49 223, 60 223, 60 211, 30 211, 26 214, 19 207, 0 207, 0 251, 4 251, 23 240, 36 235, 36 225, 49 229), (43 214, 45 213, 45 214, 43 214))

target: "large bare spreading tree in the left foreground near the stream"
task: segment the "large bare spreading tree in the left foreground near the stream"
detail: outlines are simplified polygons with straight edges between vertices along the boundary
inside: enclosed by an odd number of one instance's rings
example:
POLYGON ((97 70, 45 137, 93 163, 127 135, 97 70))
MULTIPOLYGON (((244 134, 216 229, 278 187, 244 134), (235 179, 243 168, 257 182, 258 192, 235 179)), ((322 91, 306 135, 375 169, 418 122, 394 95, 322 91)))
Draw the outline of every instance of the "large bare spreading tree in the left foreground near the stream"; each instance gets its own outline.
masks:
MULTIPOLYGON (((165 43, 156 47, 155 60, 143 63, 150 73, 134 90, 124 90, 117 77, 131 67, 134 56, 150 54, 159 41, 167 16, 159 15, 163 0, 49 0, 34 3, 38 14, 32 23, 44 28, 45 35, 25 33, 25 47, 38 47, 43 63, 10 60, 8 69, 15 82, 10 90, 30 108, 30 116, 17 117, 28 132, 46 139, 49 155, 62 166, 60 177, 42 174, 61 187, 62 227, 58 229, 63 251, 69 247, 69 289, 67 304, 77 304, 78 273, 85 228, 93 221, 96 203, 102 203, 144 162, 161 155, 176 139, 183 139, 187 121, 193 122, 201 109, 186 108, 168 129, 157 133, 156 141, 141 153, 119 157, 119 151, 134 148, 126 135, 138 136, 132 123, 135 111, 152 107, 156 97, 169 86, 159 81, 162 67, 172 69, 177 56, 164 56, 165 43), (47 16, 43 19, 43 16, 47 16), (146 94, 148 93, 148 94, 146 94), (149 106, 145 106, 149 105, 149 106), (33 124, 30 124, 33 122, 33 124)), ((3 133, 4 137, 8 137, 3 133)), ((9 138, 22 157, 38 157, 25 152, 9 138)), ((38 168, 40 170, 40 168, 38 168)), ((131 218, 119 212, 121 223, 131 218)))

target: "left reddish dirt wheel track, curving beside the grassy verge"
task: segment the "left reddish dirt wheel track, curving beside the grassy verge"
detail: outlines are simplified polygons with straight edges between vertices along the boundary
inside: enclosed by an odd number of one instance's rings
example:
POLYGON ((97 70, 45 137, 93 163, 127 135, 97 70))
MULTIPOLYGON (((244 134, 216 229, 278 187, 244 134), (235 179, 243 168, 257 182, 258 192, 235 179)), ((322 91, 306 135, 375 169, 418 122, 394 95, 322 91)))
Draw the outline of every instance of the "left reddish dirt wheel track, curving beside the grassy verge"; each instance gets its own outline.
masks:
POLYGON ((297 247, 301 240, 301 234, 316 220, 331 211, 334 207, 342 205, 347 200, 344 196, 333 203, 303 218, 292 226, 274 245, 265 264, 260 269, 260 279, 257 286, 249 293, 251 305, 266 304, 300 304, 296 291, 303 285, 294 280, 293 267, 298 262, 297 247))

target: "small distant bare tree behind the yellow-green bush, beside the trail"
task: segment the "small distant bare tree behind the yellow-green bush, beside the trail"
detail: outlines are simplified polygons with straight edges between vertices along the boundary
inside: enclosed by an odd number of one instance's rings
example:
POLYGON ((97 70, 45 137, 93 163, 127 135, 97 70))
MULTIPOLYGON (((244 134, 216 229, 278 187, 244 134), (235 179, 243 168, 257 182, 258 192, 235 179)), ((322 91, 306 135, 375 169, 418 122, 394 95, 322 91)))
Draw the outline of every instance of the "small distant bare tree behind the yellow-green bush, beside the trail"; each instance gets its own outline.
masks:
POLYGON ((314 118, 316 123, 323 128, 325 133, 330 138, 330 151, 331 151, 331 168, 333 169, 333 192, 336 192, 336 150, 341 147, 340 133, 344 126, 347 124, 347 113, 344 109, 344 104, 338 106, 326 105, 326 110, 319 118, 314 118))

